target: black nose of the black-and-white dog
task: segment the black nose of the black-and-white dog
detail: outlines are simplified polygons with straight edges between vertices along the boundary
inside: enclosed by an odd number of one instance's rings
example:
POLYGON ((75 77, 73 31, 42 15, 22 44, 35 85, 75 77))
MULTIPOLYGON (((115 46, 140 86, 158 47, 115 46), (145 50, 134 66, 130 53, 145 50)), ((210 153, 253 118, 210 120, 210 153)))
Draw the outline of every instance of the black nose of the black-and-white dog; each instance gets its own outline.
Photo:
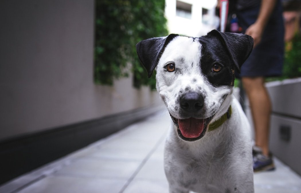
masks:
POLYGON ((197 112, 204 106, 204 97, 197 92, 188 92, 180 97, 180 107, 185 111, 197 112))

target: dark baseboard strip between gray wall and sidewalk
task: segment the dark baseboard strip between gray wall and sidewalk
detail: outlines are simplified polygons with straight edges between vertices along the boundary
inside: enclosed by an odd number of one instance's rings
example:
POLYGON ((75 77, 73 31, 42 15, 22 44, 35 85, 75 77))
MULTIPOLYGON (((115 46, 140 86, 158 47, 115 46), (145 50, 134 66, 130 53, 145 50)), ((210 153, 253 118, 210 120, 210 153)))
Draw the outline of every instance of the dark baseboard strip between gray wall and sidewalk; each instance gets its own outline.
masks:
POLYGON ((0 141, 0 185, 162 110, 135 109, 0 141))

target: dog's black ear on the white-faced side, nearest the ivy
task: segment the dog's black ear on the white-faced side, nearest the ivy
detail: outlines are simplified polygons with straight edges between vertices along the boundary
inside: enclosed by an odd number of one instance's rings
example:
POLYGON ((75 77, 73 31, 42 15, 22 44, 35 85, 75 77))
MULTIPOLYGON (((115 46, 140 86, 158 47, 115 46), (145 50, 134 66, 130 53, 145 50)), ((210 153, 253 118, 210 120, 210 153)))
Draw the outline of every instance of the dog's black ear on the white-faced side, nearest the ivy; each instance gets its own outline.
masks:
POLYGON ((167 46, 167 44, 178 34, 170 34, 161 38, 150 38, 142 40, 136 44, 138 57, 142 65, 147 70, 148 77, 150 78, 156 68, 158 61, 167 46))

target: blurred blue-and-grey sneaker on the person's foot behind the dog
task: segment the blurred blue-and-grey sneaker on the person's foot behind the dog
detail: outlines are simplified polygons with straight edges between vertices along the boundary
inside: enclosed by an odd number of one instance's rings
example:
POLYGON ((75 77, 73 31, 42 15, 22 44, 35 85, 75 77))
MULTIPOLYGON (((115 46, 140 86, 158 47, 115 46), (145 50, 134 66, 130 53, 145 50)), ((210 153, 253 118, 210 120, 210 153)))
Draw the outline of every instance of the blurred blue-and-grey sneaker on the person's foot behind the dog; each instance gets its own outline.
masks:
POLYGON ((254 172, 275 170, 272 156, 263 155, 259 147, 253 147, 253 170, 254 172))

